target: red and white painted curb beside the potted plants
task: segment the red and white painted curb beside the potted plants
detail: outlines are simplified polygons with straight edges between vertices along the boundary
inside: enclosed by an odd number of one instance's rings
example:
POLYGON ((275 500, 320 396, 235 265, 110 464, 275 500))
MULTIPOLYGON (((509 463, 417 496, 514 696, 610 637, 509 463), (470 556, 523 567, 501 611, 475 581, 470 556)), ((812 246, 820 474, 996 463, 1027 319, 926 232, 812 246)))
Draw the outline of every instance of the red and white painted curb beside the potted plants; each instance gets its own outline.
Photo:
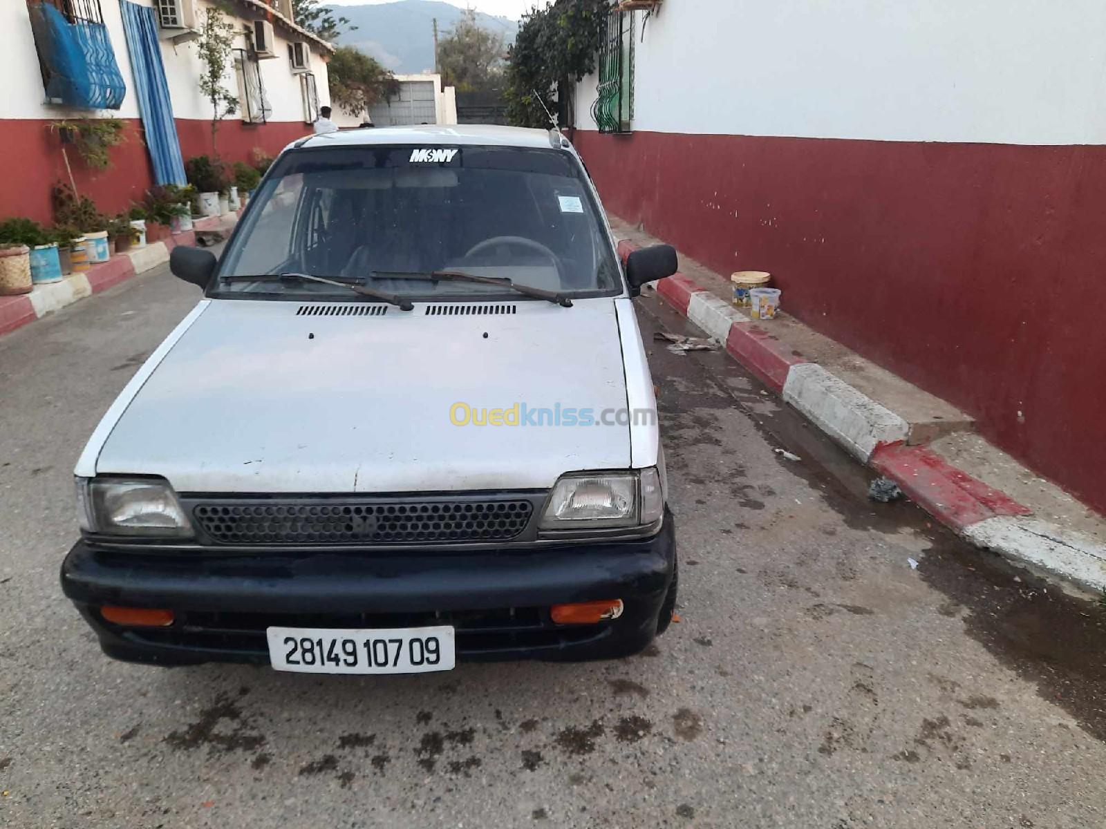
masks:
POLYGON ((228 232, 238 213, 196 219, 192 230, 113 255, 92 265, 84 273, 67 274, 60 282, 38 284, 29 294, 0 296, 0 335, 41 319, 44 315, 71 305, 112 285, 150 271, 169 261, 169 251, 180 244, 196 244, 197 232, 228 232))

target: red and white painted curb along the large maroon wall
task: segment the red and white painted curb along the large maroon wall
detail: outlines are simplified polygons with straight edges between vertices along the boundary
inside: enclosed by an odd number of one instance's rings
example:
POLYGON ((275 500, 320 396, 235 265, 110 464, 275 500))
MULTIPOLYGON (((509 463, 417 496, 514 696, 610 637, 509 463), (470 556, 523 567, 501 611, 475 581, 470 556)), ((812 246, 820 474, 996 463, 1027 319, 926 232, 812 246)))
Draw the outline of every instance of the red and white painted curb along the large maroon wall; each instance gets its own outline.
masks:
MULTIPOLYGON (((628 240, 618 255, 637 250, 628 240)), ((774 333, 678 273, 657 293, 723 344, 727 353, 862 463, 899 485, 937 521, 978 547, 1023 562, 1095 590, 1106 590, 1106 547, 1047 521, 926 447, 907 445, 907 420, 774 333)))

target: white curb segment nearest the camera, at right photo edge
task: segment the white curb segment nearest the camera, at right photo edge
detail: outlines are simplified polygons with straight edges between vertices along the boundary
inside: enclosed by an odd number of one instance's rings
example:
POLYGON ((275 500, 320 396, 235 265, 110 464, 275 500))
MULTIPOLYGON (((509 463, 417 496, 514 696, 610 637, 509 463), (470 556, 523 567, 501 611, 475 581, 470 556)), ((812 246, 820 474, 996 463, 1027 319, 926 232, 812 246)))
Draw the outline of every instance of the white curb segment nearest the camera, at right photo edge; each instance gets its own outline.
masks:
POLYGON ((978 547, 1106 590, 1106 547, 1086 536, 1036 518, 1005 515, 972 524, 963 536, 978 547))

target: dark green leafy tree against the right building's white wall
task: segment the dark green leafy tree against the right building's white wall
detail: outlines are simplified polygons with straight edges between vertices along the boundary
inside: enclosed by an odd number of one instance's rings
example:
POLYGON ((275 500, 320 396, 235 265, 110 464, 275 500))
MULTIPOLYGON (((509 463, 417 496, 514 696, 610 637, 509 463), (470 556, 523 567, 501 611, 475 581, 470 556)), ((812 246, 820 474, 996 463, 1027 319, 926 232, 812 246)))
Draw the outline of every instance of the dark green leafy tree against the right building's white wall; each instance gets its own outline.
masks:
POLYGON ((609 0, 555 0, 523 15, 507 57, 507 117, 515 126, 547 127, 557 87, 595 71, 609 0))

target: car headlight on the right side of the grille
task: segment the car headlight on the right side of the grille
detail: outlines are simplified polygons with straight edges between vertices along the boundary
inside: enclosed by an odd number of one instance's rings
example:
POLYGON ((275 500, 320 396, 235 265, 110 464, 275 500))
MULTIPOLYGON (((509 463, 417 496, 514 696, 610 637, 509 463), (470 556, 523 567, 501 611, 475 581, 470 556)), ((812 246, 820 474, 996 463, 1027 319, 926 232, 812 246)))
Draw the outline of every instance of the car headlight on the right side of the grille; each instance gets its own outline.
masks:
POLYGON ((665 511, 656 468, 640 472, 564 475, 550 493, 543 529, 645 526, 665 511))

